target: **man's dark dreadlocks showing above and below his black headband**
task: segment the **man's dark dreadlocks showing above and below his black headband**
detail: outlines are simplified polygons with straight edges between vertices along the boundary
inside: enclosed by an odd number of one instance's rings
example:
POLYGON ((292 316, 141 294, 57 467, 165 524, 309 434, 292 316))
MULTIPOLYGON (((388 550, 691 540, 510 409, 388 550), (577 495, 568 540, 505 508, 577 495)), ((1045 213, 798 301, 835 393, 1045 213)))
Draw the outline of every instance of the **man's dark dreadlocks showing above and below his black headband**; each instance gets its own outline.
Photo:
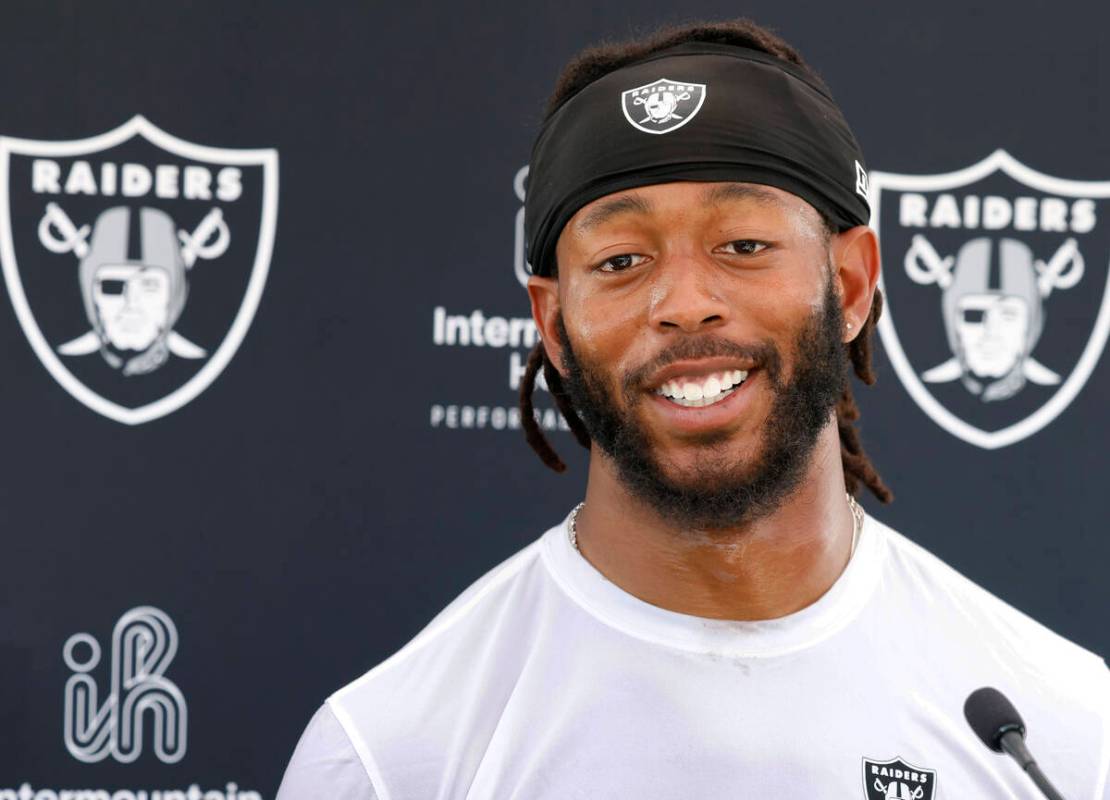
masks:
MULTIPOLYGON (((820 81, 820 77, 801 59, 801 55, 783 39, 769 30, 757 26, 747 19, 727 22, 692 22, 683 26, 662 28, 648 37, 629 42, 605 42, 584 50, 564 68, 555 83, 555 91, 547 102, 546 118, 549 118, 567 100, 582 91, 587 84, 626 64, 638 61, 660 50, 687 42, 712 42, 734 44, 769 53, 800 67, 809 75, 820 81)), ((834 229, 826 220, 829 234, 834 229)), ((557 265, 553 265, 552 274, 557 274, 557 265)), ((860 326, 859 334, 845 345, 848 362, 856 377, 864 384, 875 384, 875 371, 871 366, 871 336, 882 313, 882 295, 875 291, 871 310, 860 326)), ((543 369, 544 379, 555 405, 566 419, 575 439, 589 449, 591 437, 582 418, 574 409, 571 398, 563 386, 558 371, 548 360, 543 342, 536 343, 528 356, 524 376, 521 381, 521 426, 532 449, 541 460, 557 473, 566 470, 566 464, 558 457, 547 437, 544 436, 535 417, 532 395, 535 391, 536 376, 543 369)), ((840 460, 844 464, 844 477, 848 492, 857 495, 861 487, 867 487, 882 503, 894 499, 894 494, 882 483, 871 460, 864 452, 856 429, 859 419, 859 406, 851 392, 849 376, 845 376, 844 392, 836 406, 837 429, 840 434, 840 460)))

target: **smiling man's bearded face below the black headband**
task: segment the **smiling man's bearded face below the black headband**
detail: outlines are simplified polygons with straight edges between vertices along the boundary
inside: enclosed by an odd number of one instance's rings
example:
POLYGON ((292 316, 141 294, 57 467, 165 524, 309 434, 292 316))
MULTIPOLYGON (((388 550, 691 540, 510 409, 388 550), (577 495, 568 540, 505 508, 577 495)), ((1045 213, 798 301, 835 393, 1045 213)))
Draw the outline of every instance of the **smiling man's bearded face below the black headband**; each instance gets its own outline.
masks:
POLYGON ((846 373, 817 213, 767 186, 647 186, 582 209, 557 261, 566 387, 625 485, 690 527, 777 507, 846 373))

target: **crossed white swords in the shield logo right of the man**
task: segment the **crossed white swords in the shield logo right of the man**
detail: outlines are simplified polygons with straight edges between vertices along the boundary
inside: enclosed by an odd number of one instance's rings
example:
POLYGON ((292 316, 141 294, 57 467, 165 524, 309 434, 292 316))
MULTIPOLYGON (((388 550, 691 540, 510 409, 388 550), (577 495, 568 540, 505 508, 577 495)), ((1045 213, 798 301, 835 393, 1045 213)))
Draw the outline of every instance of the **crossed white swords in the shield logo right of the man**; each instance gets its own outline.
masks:
MULTIPOLYGON (((941 255, 921 234, 916 234, 906 252, 904 260, 906 274, 914 283, 927 286, 936 284, 941 291, 947 290, 953 280, 952 270, 956 257, 941 255)), ((1047 262, 1039 259, 1033 262, 1037 272, 1037 291, 1041 300, 1047 300, 1053 290, 1068 290, 1079 283, 1084 270, 1083 256, 1074 239, 1068 239, 1047 262)), ((1060 376, 1038 362, 1031 354, 1025 355, 1022 365, 1025 377, 1041 386, 1052 386, 1060 383, 1060 376)), ((957 356, 926 371, 921 377, 929 383, 948 383, 959 379, 963 367, 957 356)))

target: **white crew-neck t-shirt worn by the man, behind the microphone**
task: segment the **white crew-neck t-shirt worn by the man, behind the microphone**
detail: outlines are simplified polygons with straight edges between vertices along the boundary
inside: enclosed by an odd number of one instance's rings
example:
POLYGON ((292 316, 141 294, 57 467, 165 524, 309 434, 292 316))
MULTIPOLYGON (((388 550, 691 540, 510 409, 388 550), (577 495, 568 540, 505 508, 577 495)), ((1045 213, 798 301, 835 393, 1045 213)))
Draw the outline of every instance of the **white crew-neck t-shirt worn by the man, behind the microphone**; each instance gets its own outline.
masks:
POLYGON ((817 602, 757 622, 628 595, 566 523, 333 695, 278 800, 1039 798, 963 701, 993 686, 1069 800, 1110 799, 1110 672, 867 518, 817 602))

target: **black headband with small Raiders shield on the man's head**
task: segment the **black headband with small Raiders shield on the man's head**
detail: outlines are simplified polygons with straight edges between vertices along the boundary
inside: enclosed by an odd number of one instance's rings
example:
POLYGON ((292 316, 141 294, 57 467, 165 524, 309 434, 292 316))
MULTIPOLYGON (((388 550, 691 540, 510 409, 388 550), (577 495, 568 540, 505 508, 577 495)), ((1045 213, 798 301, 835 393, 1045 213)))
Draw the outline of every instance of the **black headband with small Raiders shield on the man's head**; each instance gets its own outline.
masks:
POLYGON ((828 89, 764 52, 695 42, 597 79, 544 122, 524 227, 537 275, 587 203, 672 181, 740 181, 795 194, 837 230, 866 225, 859 144, 828 89))

